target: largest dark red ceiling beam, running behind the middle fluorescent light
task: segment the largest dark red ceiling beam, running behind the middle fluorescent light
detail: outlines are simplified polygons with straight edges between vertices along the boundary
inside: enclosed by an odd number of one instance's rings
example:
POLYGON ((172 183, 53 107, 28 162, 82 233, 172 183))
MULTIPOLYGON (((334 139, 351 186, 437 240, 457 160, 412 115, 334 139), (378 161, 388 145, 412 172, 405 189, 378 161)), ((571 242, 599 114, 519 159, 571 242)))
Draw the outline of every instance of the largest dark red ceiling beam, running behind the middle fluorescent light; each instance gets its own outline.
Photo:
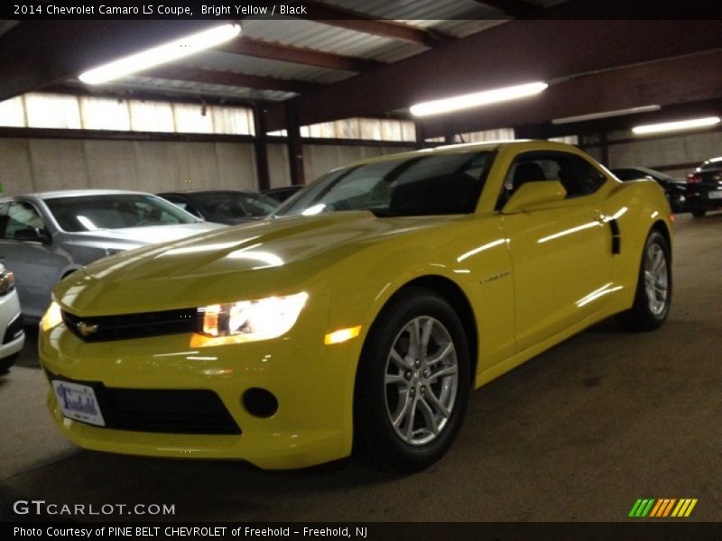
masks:
MULTIPOLYGON (((299 123, 316 124, 406 109, 483 88, 554 81, 720 47, 722 32, 712 20, 515 20, 322 87, 294 102, 299 123)), ((598 87, 596 92, 604 94, 606 89, 598 87)), ((521 108, 523 102, 514 106, 521 108)), ((282 129, 284 107, 271 105, 268 113, 268 128, 282 129)))

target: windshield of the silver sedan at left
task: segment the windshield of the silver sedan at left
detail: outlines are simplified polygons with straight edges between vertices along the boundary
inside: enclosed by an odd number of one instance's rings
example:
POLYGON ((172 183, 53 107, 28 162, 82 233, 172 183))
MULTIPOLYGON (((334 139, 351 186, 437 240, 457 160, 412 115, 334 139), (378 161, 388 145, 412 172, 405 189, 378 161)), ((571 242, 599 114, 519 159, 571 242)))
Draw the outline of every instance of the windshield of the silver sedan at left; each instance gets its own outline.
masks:
POLYGON ((54 197, 45 204, 60 227, 72 233, 198 222, 168 201, 144 194, 54 197))

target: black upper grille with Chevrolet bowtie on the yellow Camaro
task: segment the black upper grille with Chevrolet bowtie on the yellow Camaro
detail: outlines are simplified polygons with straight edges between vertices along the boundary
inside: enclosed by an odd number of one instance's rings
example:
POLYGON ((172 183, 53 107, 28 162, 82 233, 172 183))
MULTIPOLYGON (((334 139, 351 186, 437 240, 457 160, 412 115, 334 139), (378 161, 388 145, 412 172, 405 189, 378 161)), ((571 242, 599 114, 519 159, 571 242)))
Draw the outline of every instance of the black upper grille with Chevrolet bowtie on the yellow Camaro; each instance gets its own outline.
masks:
POLYGON ((202 326, 197 308, 96 317, 75 316, 63 310, 62 319, 86 342, 195 333, 202 326))

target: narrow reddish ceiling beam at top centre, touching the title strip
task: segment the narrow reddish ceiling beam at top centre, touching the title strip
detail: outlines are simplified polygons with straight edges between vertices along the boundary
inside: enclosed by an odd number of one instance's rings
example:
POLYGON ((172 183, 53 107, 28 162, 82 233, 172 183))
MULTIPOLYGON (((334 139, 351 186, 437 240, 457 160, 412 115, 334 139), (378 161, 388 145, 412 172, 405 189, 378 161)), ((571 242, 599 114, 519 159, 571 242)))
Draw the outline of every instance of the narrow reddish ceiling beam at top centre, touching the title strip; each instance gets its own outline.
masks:
POLYGON ((422 30, 408 24, 393 23, 392 21, 371 19, 367 14, 320 4, 312 0, 304 1, 303 5, 309 10, 309 15, 304 16, 305 19, 346 28, 354 32, 374 34, 382 38, 406 41, 423 47, 436 47, 455 40, 455 38, 441 32, 422 30))

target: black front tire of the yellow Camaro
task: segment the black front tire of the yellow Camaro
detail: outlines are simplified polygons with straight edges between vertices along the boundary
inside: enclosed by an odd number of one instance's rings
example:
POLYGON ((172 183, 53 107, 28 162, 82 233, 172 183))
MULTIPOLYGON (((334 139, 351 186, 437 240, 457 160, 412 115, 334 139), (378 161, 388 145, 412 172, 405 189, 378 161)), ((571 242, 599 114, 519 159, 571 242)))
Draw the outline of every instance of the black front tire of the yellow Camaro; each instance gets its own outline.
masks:
MULTIPOLYGON (((403 355, 404 362, 413 357, 411 343, 406 344, 408 349, 403 355)), ((466 412, 471 388, 470 367, 467 336, 449 303, 429 289, 403 289, 376 318, 366 337, 359 360, 354 403, 355 452, 370 457, 384 468, 404 473, 421 472, 439 461, 456 438, 466 412), (411 331, 407 326, 412 325, 415 320, 419 321, 423 328, 427 328, 427 324, 430 325, 431 338, 427 340, 426 353, 417 358, 418 362, 411 362, 409 368, 402 370, 398 363, 393 362, 391 350, 394 347, 394 352, 400 353, 398 358, 402 359, 403 351, 398 347, 400 344, 403 345, 407 338, 411 341, 411 331), (446 349, 449 344, 452 344, 452 350, 446 349), (442 356, 442 350, 452 353, 442 356), (443 361, 427 367, 425 362, 433 362, 434 355, 442 358, 443 361), (438 376, 439 379, 432 381, 437 377, 435 372, 449 371, 454 362, 456 362, 455 384, 451 383, 454 375, 438 376), (385 378, 389 371, 398 371, 390 376, 399 378, 398 383, 386 382, 385 378), (401 381, 401 378, 404 381, 401 381), (452 388, 455 389, 451 391, 452 388), (434 408, 428 406, 433 404, 432 398, 440 402, 449 400, 452 392, 455 394, 450 404, 447 403, 450 408, 450 411, 446 412, 449 413, 448 417, 444 417, 441 413, 442 409, 437 406, 434 405, 434 408), (430 396, 430 393, 433 396, 430 396), (414 397, 417 397, 416 401, 414 397), (418 411, 415 408, 420 408, 421 417, 417 418, 415 415, 409 417, 399 413, 396 417, 398 419, 404 417, 405 427, 402 423, 394 428, 391 417, 399 409, 402 412, 406 411, 403 404, 407 407, 408 404, 412 404, 414 414, 418 411), (430 420, 436 419, 436 416, 441 416, 438 426, 435 420, 430 420), (424 427, 416 428, 421 424, 424 427), (428 429, 430 426, 436 427, 438 434, 434 435, 428 429), (431 439, 424 443, 423 437, 419 436, 418 441, 410 443, 397 431, 407 432, 407 436, 411 434, 412 440, 417 433, 422 435, 426 431, 428 434, 425 437, 431 439)))

